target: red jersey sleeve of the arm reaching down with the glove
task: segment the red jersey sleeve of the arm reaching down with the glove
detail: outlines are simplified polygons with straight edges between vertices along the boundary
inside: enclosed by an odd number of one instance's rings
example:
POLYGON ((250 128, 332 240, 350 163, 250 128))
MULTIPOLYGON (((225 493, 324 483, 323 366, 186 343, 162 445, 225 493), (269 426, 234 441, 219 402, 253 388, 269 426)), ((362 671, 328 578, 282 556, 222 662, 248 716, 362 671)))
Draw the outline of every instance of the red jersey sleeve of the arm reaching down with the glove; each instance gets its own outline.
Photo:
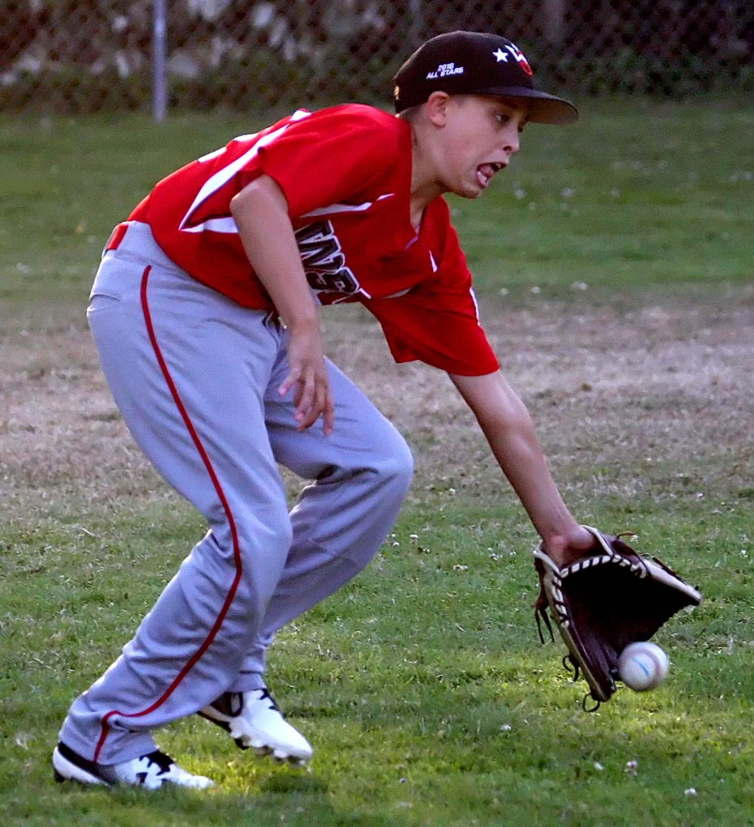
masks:
POLYGON ((471 274, 449 224, 433 279, 404 295, 363 304, 382 325, 396 362, 419 360, 462 376, 482 376, 499 367, 479 323, 471 274))

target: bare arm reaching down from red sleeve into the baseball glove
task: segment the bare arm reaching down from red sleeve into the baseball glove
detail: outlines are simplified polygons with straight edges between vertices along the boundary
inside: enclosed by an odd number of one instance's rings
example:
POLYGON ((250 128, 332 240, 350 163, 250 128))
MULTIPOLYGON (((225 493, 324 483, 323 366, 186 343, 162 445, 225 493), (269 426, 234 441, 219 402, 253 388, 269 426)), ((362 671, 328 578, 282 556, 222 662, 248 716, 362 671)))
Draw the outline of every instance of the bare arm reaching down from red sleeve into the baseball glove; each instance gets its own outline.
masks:
POLYGON ((542 538, 545 552, 559 565, 580 557, 593 546, 593 537, 564 504, 518 394, 499 371, 483 376, 450 374, 450 379, 477 418, 498 465, 542 538))

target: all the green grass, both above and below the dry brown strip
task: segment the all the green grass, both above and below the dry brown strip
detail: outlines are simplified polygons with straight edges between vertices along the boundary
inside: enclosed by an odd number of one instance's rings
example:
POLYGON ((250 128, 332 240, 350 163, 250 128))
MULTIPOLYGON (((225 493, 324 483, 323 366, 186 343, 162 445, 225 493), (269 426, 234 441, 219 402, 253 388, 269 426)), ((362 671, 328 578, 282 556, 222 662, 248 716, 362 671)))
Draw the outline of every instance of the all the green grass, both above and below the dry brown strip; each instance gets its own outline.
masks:
MULTIPOLYGON (((113 224, 161 175, 253 126, 0 119, 0 332, 9 341, 22 325, 69 324, 113 224)), ((537 300, 630 303, 737 289, 754 264, 752 127, 750 109, 723 103, 603 101, 573 129, 527 128, 492 191, 452 204, 483 292, 507 288, 515 299, 538 286, 537 300), (572 291, 577 281, 590 289, 572 291)), ((219 730, 185 720, 160 743, 219 781, 200 795, 64 789, 51 782, 49 756, 70 700, 117 655, 201 521, 171 495, 87 503, 62 480, 58 495, 23 510, 8 498, 2 824, 754 824, 754 498, 727 471, 731 456, 751 466, 747 430, 742 421, 739 442, 689 460, 712 509, 700 509, 695 480, 663 465, 661 446, 651 468, 639 453, 620 466, 574 457, 564 468, 579 481, 568 497, 581 519, 641 528, 641 549, 670 550, 704 592, 699 610, 657 638, 672 661, 659 690, 621 690, 584 713, 585 685, 560 669, 562 647, 536 638, 531 527, 510 495, 464 485, 451 467, 442 485, 417 480, 377 561, 276 642, 271 686, 315 745, 311 772, 255 762, 219 730), (646 485, 630 501, 595 500, 594 475, 646 485)))

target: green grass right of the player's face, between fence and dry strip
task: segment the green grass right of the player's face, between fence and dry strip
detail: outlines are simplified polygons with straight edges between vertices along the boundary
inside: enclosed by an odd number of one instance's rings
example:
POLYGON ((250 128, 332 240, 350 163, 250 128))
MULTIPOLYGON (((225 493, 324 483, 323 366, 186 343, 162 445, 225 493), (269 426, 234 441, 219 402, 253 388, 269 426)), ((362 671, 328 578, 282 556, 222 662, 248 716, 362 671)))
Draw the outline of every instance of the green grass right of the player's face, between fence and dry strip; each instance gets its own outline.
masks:
POLYGON ((532 124, 494 203, 458 217, 470 265, 486 289, 750 280, 752 127, 751 109, 699 102, 532 124))

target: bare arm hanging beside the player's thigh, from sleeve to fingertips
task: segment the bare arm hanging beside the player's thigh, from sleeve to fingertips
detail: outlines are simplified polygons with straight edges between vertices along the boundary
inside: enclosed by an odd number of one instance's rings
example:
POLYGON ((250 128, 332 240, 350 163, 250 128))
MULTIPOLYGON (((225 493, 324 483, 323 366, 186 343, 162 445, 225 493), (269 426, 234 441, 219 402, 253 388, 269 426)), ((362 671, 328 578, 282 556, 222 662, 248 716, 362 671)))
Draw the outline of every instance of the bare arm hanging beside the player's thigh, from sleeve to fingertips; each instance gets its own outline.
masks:
POLYGON ((300 431, 321 416, 324 433, 329 434, 333 399, 319 316, 301 265, 286 196, 273 179, 262 175, 233 197, 230 208, 248 260, 288 328, 290 372, 280 393, 294 389, 300 431))

